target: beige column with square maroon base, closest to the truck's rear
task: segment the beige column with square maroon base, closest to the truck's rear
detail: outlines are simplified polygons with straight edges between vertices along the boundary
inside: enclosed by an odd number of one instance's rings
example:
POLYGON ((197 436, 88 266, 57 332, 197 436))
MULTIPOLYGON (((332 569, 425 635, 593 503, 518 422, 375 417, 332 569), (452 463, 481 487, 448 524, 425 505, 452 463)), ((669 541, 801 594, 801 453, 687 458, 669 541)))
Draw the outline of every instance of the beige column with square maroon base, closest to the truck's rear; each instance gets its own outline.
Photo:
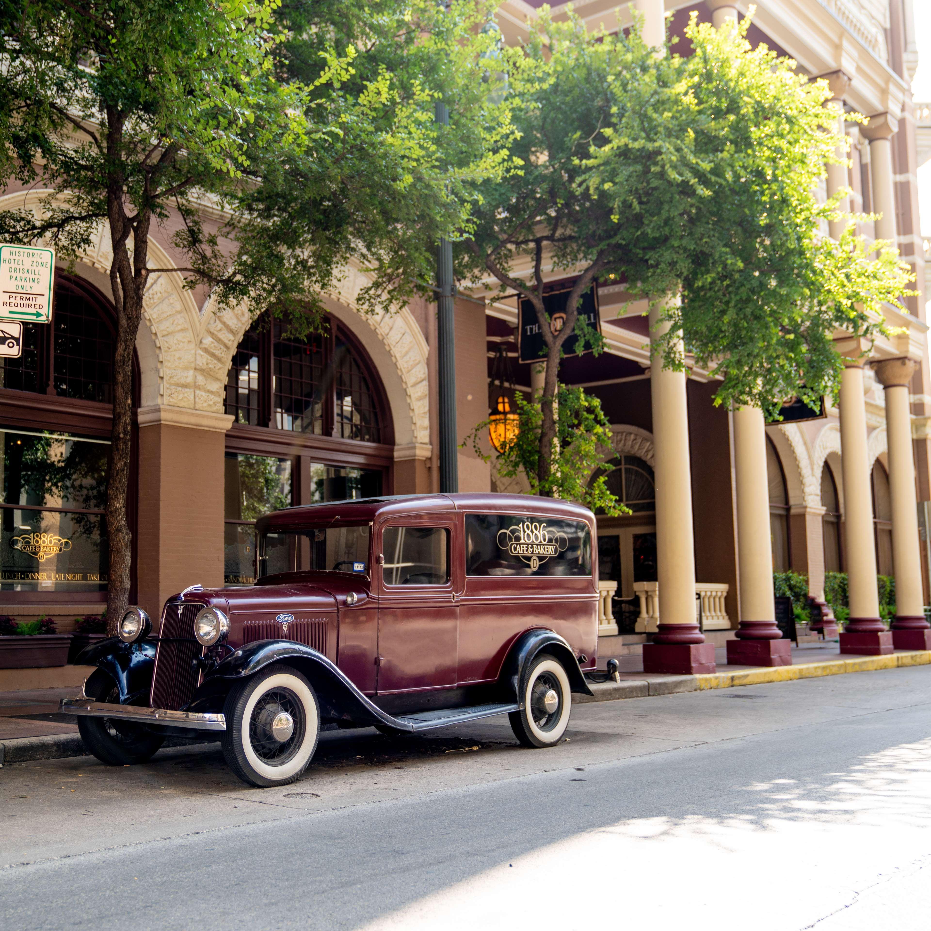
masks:
MULTIPOLYGON (((654 341, 668 331, 657 324, 662 305, 650 311, 654 341)), ((659 629, 644 644, 645 672, 713 671, 714 646, 705 643, 695 609, 695 533, 685 372, 663 367, 654 355, 650 370, 656 494, 656 579, 659 629)))

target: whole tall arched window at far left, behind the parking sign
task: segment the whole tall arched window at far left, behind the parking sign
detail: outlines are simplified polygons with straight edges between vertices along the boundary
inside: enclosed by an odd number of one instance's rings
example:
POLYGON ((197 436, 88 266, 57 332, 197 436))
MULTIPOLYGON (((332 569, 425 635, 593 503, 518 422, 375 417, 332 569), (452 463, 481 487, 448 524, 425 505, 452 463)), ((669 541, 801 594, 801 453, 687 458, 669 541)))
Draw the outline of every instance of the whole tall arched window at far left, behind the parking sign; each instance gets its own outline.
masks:
MULTIPOLYGON (((56 270, 50 323, 24 324, 20 358, 0 359, 0 613, 102 610, 114 345, 112 304, 87 281, 56 270)), ((133 443, 133 476, 135 459, 133 443)), ((135 487, 131 478, 134 550, 135 487)), ((134 589, 134 558, 132 566, 134 589)))

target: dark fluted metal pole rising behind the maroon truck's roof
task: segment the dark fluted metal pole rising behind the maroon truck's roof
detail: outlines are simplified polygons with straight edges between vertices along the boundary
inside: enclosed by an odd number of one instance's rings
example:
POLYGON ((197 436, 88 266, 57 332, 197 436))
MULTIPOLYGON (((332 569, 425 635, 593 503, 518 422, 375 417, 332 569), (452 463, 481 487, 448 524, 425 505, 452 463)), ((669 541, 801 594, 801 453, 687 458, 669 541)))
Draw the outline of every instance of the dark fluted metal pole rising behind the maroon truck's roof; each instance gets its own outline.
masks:
MULTIPOLYGON (((450 111, 436 102, 435 120, 450 125, 450 111)), ((439 381, 439 491, 459 491, 458 443, 456 438, 456 348, 453 316, 452 243, 441 238, 437 247, 437 342, 439 381)))

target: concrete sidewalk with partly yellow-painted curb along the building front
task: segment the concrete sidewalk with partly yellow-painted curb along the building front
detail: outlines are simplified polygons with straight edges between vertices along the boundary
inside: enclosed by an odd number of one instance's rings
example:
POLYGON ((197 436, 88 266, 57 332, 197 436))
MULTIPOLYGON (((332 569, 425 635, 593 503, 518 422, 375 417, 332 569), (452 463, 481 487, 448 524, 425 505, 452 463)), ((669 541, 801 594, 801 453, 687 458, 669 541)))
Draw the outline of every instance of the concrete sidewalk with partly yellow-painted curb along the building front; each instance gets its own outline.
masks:
MULTIPOLYGON (((716 653, 718 671, 696 676, 645 673, 640 656, 622 656, 618 659, 621 681, 593 683, 594 695, 573 695, 573 704, 931 665, 931 651, 899 650, 886 656, 842 655, 836 641, 793 647, 792 665, 776 668, 728 666, 726 650, 720 648, 716 653)), ((87 751, 77 733, 74 717, 60 714, 58 710, 60 699, 76 691, 72 687, 0 692, 0 766, 9 762, 84 756, 87 751)), ((169 743, 175 741, 169 740, 169 743)))

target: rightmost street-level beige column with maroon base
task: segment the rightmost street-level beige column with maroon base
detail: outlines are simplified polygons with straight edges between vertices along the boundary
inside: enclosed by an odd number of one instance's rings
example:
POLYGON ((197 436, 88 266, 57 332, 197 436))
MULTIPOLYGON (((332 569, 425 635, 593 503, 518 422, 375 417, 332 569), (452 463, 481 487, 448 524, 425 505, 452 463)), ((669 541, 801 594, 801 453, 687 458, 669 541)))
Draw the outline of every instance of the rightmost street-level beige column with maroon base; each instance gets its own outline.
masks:
POLYGON ((892 560, 896 574, 896 619, 892 624, 892 641, 899 650, 931 649, 931 629, 924 620, 915 464, 911 451, 909 383, 917 367, 918 363, 911 358, 889 359, 875 366, 876 376, 885 388, 892 560))

